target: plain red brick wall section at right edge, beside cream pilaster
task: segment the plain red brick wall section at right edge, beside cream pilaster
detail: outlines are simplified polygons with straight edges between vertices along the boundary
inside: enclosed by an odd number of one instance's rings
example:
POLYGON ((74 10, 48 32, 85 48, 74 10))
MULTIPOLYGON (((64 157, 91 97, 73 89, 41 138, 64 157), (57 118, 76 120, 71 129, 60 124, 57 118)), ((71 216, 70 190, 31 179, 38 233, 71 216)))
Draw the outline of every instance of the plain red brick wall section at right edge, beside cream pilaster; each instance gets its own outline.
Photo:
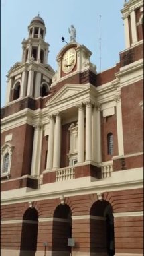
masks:
POLYGON ((124 153, 143 151, 143 82, 135 82, 121 88, 124 153), (137 96, 137 97, 136 97, 137 96))

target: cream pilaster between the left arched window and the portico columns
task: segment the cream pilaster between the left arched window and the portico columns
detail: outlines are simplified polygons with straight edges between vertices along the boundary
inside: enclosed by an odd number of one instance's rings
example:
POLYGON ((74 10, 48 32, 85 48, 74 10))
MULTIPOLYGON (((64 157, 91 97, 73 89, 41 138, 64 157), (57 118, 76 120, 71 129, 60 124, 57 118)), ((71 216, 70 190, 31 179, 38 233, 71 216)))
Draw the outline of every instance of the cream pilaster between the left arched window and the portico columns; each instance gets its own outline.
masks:
POLYGON ((40 162, 42 152, 42 125, 35 125, 34 138, 33 138, 33 155, 31 163, 31 175, 40 175, 40 162))

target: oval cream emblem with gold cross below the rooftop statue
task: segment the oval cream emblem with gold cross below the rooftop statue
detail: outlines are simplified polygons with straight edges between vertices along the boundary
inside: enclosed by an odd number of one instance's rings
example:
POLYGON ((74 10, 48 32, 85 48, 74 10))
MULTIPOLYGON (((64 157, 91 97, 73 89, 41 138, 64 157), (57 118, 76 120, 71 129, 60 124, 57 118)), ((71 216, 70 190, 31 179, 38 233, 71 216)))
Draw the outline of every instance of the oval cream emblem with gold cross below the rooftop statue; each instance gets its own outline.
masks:
POLYGON ((76 51, 74 48, 70 48, 64 53, 62 58, 62 71, 69 73, 76 65, 76 51))

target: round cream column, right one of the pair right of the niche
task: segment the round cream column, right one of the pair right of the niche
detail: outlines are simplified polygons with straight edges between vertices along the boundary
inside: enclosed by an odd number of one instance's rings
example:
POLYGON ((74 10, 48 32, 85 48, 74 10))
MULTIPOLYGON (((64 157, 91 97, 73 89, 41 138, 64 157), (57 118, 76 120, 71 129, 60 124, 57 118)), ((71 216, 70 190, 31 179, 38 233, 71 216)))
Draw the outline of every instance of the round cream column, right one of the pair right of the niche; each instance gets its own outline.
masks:
POLYGON ((92 161, 92 104, 86 102, 86 161, 92 161))

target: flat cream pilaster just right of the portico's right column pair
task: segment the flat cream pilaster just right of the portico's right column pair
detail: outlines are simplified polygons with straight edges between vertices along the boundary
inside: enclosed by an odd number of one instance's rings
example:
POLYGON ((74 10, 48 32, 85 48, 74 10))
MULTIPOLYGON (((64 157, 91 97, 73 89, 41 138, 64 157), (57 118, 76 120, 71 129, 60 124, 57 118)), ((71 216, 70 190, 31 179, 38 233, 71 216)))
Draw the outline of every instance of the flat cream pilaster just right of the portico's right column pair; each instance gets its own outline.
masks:
POLYGON ((102 139, 101 139, 101 105, 96 104, 96 162, 102 162, 102 139))

